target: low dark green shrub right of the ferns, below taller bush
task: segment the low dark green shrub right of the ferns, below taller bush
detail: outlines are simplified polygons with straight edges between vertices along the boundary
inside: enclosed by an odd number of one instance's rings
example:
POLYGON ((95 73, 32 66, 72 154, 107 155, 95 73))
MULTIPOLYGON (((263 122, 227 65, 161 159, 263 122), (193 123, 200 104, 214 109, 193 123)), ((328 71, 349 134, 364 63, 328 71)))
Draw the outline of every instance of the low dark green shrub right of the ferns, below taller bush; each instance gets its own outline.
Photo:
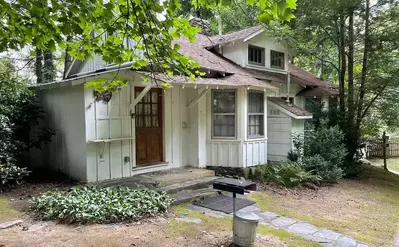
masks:
POLYGON ((323 183, 336 183, 343 177, 341 168, 324 160, 320 155, 304 157, 301 164, 306 171, 320 176, 323 183))

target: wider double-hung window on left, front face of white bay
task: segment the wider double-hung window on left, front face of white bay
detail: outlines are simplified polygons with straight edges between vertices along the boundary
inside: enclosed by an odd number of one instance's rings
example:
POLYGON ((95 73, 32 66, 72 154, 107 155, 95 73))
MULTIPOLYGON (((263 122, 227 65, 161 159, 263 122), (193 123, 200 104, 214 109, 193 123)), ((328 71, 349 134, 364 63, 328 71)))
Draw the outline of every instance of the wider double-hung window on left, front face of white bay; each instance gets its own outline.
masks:
POLYGON ((212 90, 212 137, 236 136, 236 91, 212 90))

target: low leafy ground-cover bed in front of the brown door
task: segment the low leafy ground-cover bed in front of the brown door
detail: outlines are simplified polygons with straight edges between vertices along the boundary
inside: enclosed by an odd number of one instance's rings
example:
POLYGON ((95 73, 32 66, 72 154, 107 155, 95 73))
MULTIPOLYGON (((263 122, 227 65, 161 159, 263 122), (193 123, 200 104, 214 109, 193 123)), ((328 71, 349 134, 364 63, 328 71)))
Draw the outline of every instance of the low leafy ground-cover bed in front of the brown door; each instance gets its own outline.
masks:
POLYGON ((81 187, 67 192, 48 191, 33 198, 32 211, 43 220, 108 223, 164 213, 171 202, 164 192, 152 190, 81 187))

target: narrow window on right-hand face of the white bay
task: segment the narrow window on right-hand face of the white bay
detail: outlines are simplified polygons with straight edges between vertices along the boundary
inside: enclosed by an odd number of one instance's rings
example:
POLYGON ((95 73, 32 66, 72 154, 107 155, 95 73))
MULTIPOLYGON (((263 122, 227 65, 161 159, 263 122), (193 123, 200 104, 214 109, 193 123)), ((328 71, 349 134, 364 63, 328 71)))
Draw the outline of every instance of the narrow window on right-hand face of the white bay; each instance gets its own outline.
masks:
POLYGON ((264 93, 248 92, 248 138, 264 137, 264 93))

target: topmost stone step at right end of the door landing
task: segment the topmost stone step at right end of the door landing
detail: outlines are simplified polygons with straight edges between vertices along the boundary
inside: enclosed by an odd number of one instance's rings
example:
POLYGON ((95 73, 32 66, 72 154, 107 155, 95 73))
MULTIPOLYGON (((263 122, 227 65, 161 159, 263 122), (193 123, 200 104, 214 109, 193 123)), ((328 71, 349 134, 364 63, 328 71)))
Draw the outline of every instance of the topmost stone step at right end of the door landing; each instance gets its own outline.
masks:
POLYGON ((215 171, 198 168, 185 168, 176 173, 169 173, 151 177, 151 180, 158 183, 160 187, 172 184, 184 183, 190 180, 215 177, 215 171))

